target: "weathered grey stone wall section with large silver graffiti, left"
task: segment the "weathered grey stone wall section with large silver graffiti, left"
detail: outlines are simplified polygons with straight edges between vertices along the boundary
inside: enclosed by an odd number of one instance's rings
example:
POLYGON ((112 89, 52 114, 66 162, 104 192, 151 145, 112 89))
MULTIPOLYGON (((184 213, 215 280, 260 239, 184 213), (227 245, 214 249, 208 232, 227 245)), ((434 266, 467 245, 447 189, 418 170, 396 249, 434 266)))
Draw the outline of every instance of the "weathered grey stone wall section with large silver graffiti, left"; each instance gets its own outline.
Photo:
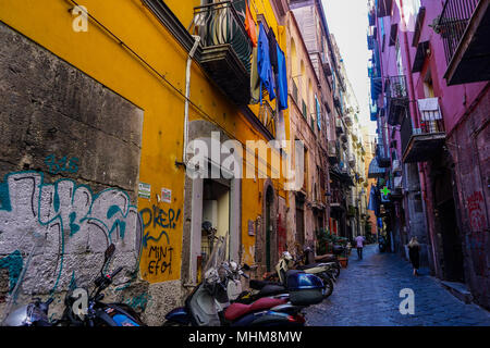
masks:
POLYGON ((124 271, 109 297, 146 307, 148 285, 132 282, 142 127, 140 109, 0 23, 1 314, 23 269, 20 301, 53 295, 61 309, 110 243, 108 271, 124 271))

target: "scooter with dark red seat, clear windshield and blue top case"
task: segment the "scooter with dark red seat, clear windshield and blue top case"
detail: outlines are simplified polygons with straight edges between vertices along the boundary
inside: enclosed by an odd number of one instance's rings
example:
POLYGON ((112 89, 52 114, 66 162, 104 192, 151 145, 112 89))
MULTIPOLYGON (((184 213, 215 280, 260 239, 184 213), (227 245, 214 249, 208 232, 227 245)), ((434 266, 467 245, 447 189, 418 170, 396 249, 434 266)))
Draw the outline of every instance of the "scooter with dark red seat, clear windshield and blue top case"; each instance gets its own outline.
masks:
MULTIPOLYGON (((314 302, 321 301, 323 284, 318 277, 289 274, 290 294, 287 296, 262 297, 249 303, 230 302, 228 285, 237 281, 236 274, 243 275, 237 266, 234 271, 224 262, 225 238, 221 237, 212 249, 204 271, 203 281, 185 300, 185 306, 172 310, 166 315, 169 325, 192 326, 303 326, 305 323, 301 311, 314 302), (307 283, 307 288, 305 284, 307 283), (306 290, 306 291, 305 291, 306 290), (309 301, 307 291, 310 293, 309 301), (297 293, 302 293, 297 295, 297 293), (315 298, 316 296, 316 298, 315 298)), ((282 288, 285 291, 285 288, 282 288)), ((287 293, 287 291, 286 291, 287 293)), ((233 291, 235 294, 235 291, 233 291)))

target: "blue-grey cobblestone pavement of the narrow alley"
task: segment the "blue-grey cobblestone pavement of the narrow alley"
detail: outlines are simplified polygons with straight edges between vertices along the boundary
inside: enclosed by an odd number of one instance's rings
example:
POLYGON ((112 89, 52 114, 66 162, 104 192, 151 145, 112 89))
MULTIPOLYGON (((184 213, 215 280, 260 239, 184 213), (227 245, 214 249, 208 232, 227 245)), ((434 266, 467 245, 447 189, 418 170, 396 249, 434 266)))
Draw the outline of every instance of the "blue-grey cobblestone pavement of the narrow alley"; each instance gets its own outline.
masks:
POLYGON ((420 270, 412 274, 409 263, 393 253, 367 246, 364 259, 353 249, 347 269, 342 269, 333 294, 306 310, 308 326, 473 326, 490 325, 490 313, 466 304, 420 270), (403 288, 415 294, 415 314, 401 314, 403 288))

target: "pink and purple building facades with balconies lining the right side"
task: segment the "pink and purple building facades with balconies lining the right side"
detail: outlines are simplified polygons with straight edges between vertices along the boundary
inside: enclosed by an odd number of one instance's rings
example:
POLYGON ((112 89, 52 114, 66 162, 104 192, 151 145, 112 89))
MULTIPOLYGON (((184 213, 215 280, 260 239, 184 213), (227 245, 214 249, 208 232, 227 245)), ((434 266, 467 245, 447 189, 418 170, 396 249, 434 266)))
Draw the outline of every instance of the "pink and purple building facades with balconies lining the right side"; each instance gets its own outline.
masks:
POLYGON ((489 0, 373 0, 371 120, 392 250, 490 308, 489 0), (487 38, 487 40, 485 40, 487 38))

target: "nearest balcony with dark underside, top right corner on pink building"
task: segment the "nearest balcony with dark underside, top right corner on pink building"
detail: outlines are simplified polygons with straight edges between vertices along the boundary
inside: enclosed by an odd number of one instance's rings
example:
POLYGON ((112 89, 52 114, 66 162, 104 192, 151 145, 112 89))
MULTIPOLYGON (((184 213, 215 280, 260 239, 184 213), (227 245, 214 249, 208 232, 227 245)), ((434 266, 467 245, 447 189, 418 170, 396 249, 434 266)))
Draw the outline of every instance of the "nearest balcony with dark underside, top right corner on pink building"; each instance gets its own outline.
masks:
POLYGON ((490 1, 446 0, 436 30, 444 42, 449 86, 490 80, 490 1))

